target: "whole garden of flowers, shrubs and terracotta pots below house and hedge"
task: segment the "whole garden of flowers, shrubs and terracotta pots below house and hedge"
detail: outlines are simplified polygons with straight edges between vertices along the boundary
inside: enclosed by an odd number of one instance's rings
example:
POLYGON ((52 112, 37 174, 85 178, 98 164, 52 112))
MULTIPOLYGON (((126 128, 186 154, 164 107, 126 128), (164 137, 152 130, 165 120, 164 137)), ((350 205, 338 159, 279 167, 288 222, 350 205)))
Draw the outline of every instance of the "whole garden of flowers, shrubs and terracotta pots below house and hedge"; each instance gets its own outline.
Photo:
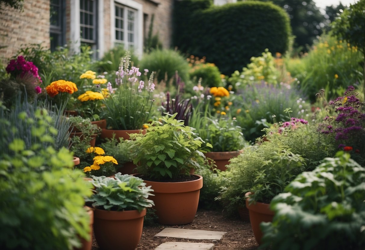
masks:
POLYGON ((155 249, 172 227, 365 249, 363 9, 229 74, 166 48, 20 48, 0 65, 0 248, 155 249))

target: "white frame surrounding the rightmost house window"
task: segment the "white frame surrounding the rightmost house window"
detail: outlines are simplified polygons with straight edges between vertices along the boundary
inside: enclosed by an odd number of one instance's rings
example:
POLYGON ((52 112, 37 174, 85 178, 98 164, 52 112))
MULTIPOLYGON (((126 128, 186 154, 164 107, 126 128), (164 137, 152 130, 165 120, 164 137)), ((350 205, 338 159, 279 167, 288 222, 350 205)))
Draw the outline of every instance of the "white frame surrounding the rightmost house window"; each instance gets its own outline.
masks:
MULTIPOLYGON (((116 43, 120 43, 115 39, 115 3, 124 5, 125 7, 134 9, 136 11, 133 51, 139 57, 141 57, 143 54, 143 5, 132 0, 110 0, 110 34, 112 46, 114 46, 116 43)), ((124 48, 128 50, 128 43, 124 43, 124 48)))

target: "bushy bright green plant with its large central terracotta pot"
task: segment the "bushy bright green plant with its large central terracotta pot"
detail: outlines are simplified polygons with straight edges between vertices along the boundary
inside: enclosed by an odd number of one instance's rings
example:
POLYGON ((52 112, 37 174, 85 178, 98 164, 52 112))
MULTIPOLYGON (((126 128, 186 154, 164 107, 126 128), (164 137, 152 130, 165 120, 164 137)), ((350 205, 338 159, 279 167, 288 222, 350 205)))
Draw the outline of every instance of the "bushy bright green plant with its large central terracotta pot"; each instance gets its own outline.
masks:
POLYGON ((203 140, 175 117, 166 114, 153 121, 146 134, 131 134, 128 141, 138 176, 154 189, 158 222, 169 225, 193 221, 203 177, 189 172, 205 159, 203 140))

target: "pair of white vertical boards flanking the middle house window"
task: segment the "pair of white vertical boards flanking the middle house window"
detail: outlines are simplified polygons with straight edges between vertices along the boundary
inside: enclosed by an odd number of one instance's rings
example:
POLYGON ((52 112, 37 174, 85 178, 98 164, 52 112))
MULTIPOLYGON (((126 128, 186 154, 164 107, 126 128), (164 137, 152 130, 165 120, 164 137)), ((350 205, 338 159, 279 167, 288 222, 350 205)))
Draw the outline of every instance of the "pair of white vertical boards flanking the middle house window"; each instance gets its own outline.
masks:
MULTIPOLYGON (((104 54, 104 1, 97 1, 97 50, 99 55, 104 54)), ((80 35, 80 0, 71 0, 70 2, 70 39, 72 44, 71 50, 74 52, 79 51, 81 46, 80 35)))

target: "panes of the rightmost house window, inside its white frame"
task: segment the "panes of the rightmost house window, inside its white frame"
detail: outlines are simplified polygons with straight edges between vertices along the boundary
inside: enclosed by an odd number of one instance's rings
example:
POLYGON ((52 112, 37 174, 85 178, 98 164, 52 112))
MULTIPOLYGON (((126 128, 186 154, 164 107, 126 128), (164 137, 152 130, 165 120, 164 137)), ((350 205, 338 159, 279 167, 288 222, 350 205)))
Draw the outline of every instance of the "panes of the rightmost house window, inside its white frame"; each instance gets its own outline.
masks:
POLYGON ((136 17, 134 9, 115 4, 115 41, 128 49, 135 46, 136 17))

